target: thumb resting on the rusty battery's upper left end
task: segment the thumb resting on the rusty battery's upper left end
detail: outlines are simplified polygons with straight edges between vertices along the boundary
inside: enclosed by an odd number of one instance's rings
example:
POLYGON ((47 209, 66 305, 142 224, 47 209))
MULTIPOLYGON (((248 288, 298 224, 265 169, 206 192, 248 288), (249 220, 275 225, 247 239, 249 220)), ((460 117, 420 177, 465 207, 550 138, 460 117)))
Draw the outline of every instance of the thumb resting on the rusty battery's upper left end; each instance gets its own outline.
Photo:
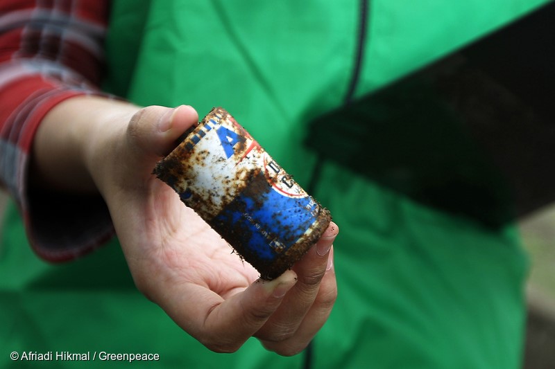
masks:
POLYGON ((144 107, 131 118, 127 138, 138 158, 159 159, 169 154, 183 132, 197 122, 198 114, 189 105, 144 107))

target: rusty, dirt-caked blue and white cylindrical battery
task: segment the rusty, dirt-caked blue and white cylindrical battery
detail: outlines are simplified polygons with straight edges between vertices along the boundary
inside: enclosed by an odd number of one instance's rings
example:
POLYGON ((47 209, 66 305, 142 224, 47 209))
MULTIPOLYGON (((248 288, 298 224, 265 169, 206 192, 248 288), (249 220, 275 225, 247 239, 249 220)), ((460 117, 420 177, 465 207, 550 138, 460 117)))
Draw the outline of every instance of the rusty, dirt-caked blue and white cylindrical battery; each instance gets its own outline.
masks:
POLYGON ((330 224, 330 212, 224 109, 214 108, 154 174, 264 279, 302 258, 330 224))

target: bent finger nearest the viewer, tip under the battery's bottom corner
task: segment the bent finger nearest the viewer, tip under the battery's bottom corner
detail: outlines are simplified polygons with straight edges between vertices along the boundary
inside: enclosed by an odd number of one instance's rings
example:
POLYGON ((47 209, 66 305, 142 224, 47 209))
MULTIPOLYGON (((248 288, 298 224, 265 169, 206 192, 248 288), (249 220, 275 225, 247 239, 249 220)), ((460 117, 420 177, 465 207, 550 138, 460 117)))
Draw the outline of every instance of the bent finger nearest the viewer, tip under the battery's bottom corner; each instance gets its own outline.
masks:
POLYGON ((155 300, 160 300, 162 309, 210 350, 234 352, 266 323, 295 283, 296 273, 289 270, 275 280, 257 280, 228 300, 189 283, 155 300))

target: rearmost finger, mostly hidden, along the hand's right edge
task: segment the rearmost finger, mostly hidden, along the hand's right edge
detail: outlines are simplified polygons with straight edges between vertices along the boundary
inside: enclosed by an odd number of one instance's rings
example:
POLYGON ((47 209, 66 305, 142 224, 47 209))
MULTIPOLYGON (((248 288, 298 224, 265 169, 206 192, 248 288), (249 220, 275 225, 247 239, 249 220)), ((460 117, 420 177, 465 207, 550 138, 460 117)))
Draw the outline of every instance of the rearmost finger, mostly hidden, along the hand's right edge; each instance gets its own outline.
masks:
POLYGON ((323 327, 325 321, 332 312, 332 307, 337 298, 337 284, 335 269, 333 267, 333 247, 330 250, 327 270, 320 282, 318 295, 314 304, 306 314, 305 319, 300 323, 297 331, 289 339, 284 341, 265 341, 261 340, 262 345, 267 350, 277 352, 283 356, 292 356, 305 350, 307 345, 314 339, 316 333, 323 327))

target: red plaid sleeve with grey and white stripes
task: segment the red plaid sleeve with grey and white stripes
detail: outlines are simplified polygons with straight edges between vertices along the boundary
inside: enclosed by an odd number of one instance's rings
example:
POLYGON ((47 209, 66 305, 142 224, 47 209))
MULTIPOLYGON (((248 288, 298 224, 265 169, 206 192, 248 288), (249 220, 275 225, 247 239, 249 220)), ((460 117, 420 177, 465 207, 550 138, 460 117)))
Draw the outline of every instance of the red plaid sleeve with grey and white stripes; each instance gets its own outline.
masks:
POLYGON ((0 1, 0 183, 22 211, 42 258, 62 261, 114 233, 99 197, 27 188, 31 145, 45 114, 67 98, 99 94, 108 0, 0 1))

